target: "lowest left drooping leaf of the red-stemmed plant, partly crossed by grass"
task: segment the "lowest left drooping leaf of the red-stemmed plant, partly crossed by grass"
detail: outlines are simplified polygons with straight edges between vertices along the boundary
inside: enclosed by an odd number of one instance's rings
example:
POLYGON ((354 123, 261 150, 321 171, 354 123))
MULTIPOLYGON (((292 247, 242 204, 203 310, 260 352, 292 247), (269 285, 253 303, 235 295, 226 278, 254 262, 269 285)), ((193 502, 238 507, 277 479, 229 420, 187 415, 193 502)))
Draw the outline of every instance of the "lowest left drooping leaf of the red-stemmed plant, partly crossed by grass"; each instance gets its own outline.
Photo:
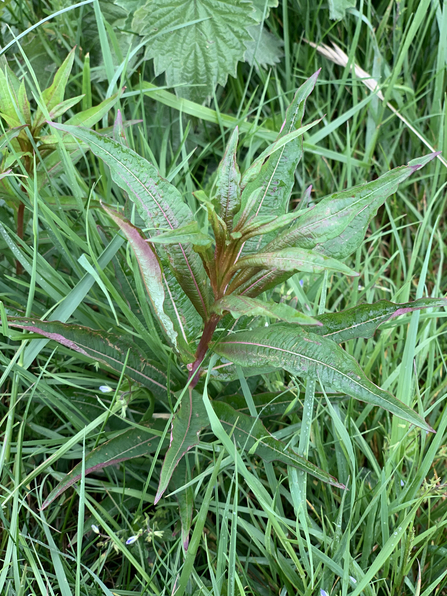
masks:
MULTIPOLYGON (((147 425, 146 428, 130 428, 120 433, 110 441, 102 443, 85 457, 85 475, 102 470, 107 466, 119 464, 122 461, 143 457, 154 453, 160 442, 160 423, 147 425)), ((41 509, 46 509, 67 488, 81 479, 82 462, 75 466, 63 480, 51 491, 45 499, 41 509)))

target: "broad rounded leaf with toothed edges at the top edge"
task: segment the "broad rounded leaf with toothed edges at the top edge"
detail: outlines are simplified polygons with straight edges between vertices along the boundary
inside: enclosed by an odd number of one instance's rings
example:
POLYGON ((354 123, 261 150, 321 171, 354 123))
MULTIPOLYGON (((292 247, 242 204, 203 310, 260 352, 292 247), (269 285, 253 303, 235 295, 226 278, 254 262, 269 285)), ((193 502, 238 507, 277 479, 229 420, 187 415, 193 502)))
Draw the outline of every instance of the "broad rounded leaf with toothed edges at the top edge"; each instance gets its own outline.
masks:
POLYGON ((236 76, 253 12, 249 0, 155 0, 135 12, 132 29, 147 39, 156 74, 165 72, 178 95, 202 103, 236 76))

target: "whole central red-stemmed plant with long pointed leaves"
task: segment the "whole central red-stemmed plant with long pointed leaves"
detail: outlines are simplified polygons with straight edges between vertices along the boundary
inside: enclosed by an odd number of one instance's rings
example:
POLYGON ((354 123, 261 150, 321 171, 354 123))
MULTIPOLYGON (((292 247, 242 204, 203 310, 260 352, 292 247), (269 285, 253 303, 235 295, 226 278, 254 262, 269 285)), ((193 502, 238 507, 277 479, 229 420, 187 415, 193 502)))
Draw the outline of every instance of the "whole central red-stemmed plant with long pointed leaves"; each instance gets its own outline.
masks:
MULTIPOLYGON (((371 337, 381 323, 404 312, 445 306, 445 300, 427 298, 405 304, 380 301, 309 316, 290 305, 260 298, 296 272, 359 276, 343 261, 361 245, 369 222, 387 197, 434 157, 413 160, 373 182, 327 196, 314 207, 307 207, 305 193, 298 209, 290 212, 294 173, 303 152, 302 136, 309 128, 302 126, 302 118, 317 76, 300 87, 277 140, 243 174, 237 165, 238 130, 234 130, 211 191, 196 193, 207 225, 200 224, 177 188, 125 145, 91 130, 52 123, 55 129, 88 145, 109 166, 115 183, 136 206, 143 228, 103 204, 138 262, 157 333, 171 354, 169 380, 166 370, 156 362, 156 354, 146 354, 140 343, 124 333, 15 316, 8 318, 9 326, 38 333, 107 369, 124 373, 131 383, 148 388, 155 401, 165 407, 179 403, 170 443, 162 446, 164 463, 155 502, 168 487, 183 455, 198 444, 200 431, 209 424, 209 402, 206 400, 205 407, 198 390, 206 371, 208 382, 237 378, 241 369, 246 376, 282 369, 292 376, 318 381, 325 390, 385 408, 425 431, 432 430, 422 416, 372 383, 339 344, 371 337), (245 319, 234 323, 231 316, 245 319), (262 317, 262 323, 256 317, 262 317), (277 322, 266 326, 266 319, 277 322), (212 353, 216 356, 210 366, 207 358, 212 353), (214 366, 217 357, 220 361, 214 366)), ((263 399, 259 397, 256 405, 269 403, 271 395, 266 402, 263 399)), ((258 418, 236 406, 234 399, 211 401, 214 414, 241 448, 342 486, 270 435, 258 418)), ((153 453, 160 420, 150 415, 146 423, 146 437, 141 427, 131 429, 94 450, 86 458, 85 472, 153 453)), ((52 491, 44 506, 80 474, 77 466, 52 491)), ((185 545, 187 534, 186 527, 185 545)))

